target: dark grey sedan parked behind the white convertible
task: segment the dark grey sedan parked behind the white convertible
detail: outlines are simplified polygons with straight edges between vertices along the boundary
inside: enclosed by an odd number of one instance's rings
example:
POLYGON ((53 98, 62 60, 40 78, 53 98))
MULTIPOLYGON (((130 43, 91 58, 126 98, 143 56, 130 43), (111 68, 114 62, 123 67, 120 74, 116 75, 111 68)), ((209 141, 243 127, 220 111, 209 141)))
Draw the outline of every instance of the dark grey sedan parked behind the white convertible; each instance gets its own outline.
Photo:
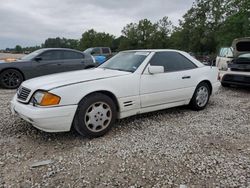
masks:
POLYGON ((0 86, 15 89, 30 78, 95 67, 90 55, 64 48, 44 48, 18 61, 0 64, 0 86))

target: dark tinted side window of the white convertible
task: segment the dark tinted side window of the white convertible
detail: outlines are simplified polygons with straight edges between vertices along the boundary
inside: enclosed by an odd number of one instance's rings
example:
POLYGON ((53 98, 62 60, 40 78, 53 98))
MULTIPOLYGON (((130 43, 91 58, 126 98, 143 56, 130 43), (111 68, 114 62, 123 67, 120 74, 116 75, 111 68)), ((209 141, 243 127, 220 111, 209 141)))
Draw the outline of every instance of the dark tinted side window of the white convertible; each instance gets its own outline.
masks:
POLYGON ((163 66, 165 72, 197 68, 194 63, 178 52, 157 52, 150 60, 150 65, 163 66))

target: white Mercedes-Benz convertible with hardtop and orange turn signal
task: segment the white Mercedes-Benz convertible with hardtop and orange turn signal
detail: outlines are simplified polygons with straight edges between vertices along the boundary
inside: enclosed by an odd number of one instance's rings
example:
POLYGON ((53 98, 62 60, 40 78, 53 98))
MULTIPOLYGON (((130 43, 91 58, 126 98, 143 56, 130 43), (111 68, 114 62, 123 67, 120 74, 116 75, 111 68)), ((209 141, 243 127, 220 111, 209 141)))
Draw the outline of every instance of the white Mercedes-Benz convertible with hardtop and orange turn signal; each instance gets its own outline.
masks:
POLYGON ((202 110, 219 86, 217 68, 186 52, 124 51, 94 69, 23 82, 11 110, 46 132, 98 137, 116 119, 181 105, 202 110))

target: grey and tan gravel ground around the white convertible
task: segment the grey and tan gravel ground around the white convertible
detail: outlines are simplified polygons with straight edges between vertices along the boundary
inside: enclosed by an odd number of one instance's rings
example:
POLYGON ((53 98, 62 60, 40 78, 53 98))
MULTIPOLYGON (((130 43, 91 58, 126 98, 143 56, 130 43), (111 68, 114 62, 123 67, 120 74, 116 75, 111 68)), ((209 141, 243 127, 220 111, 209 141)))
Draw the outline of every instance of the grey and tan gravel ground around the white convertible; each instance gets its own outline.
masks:
POLYGON ((221 88, 203 111, 127 118, 92 140, 11 116, 13 94, 0 91, 0 187, 250 187, 250 90, 221 88))

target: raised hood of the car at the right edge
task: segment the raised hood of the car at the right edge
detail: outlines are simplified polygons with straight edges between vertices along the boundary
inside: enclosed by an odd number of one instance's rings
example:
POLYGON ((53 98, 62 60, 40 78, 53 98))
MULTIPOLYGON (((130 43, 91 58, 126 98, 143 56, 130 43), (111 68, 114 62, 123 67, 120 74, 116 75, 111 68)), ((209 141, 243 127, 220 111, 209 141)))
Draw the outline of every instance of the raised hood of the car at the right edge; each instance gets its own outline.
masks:
POLYGON ((250 37, 234 39, 232 47, 234 57, 238 57, 241 54, 250 53, 250 37))

